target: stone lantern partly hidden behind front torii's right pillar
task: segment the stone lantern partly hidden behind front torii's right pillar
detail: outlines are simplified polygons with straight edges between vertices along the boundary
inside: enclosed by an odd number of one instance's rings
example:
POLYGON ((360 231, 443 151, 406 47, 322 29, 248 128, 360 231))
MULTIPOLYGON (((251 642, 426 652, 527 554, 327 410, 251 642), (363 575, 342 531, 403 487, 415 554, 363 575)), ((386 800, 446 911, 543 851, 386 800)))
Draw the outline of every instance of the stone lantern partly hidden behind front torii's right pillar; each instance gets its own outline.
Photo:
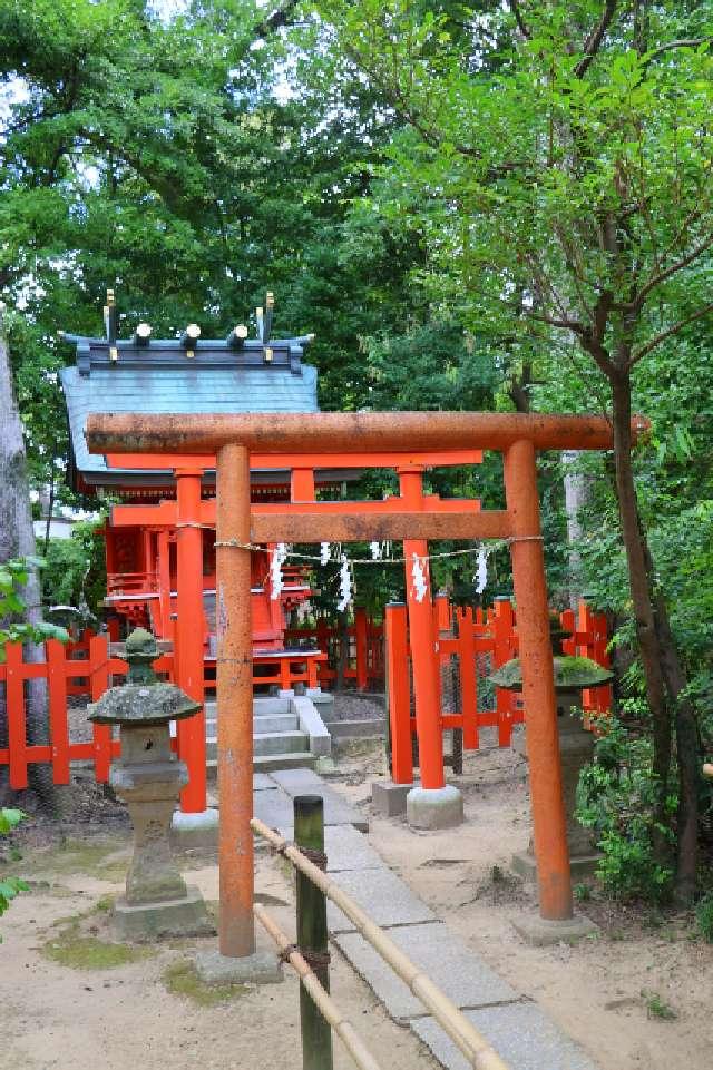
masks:
MULTIPOLYGON (((583 725, 580 717, 573 711, 582 703, 582 691, 588 687, 607 684, 613 674, 592 661, 590 658, 572 657, 561 649, 561 640, 568 635, 555 615, 550 618, 550 638, 554 654, 555 693, 557 697, 557 728, 559 733, 559 757, 561 762, 563 797, 567 818, 567 844, 573 875, 590 873, 598 855, 592 844, 592 833, 575 818, 577 783, 579 773, 592 760, 594 737, 583 725)), ((519 658, 507 661, 489 679, 506 690, 522 690, 522 673, 519 658)), ((514 747, 527 757, 525 733, 514 740, 514 747)), ((535 878, 536 864, 533 841, 526 853, 516 854, 512 867, 528 878, 535 878)))

